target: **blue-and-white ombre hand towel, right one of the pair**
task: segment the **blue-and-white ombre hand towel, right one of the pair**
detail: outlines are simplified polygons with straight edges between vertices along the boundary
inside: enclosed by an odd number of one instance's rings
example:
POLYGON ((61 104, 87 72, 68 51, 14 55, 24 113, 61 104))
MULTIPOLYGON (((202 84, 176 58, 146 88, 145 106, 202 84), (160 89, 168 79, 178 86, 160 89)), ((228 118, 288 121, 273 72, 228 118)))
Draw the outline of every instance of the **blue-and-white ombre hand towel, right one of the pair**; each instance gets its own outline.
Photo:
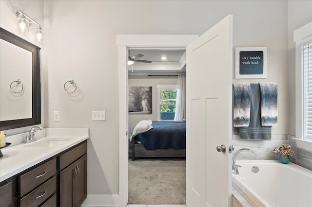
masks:
POLYGON ((260 83, 260 93, 262 126, 277 125, 277 84, 260 83))

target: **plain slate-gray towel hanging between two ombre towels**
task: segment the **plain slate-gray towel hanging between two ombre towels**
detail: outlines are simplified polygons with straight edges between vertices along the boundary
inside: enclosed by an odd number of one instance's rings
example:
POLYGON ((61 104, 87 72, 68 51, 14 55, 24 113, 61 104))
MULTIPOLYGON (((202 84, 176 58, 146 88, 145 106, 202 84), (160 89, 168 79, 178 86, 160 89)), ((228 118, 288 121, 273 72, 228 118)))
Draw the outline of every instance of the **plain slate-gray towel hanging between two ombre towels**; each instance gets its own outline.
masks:
POLYGON ((250 123, 248 127, 239 127, 239 138, 243 140, 271 140, 272 126, 262 126, 260 116, 260 86, 251 84, 250 123))

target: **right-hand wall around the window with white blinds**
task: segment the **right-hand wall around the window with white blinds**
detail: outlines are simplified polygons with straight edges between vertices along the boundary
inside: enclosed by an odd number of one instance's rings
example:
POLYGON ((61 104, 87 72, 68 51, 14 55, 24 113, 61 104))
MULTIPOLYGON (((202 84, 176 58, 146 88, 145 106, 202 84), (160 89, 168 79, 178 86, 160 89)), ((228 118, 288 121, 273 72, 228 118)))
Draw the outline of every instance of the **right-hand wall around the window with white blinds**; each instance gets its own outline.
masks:
POLYGON ((295 43, 293 31, 312 21, 312 0, 288 1, 289 134, 295 136, 295 43))

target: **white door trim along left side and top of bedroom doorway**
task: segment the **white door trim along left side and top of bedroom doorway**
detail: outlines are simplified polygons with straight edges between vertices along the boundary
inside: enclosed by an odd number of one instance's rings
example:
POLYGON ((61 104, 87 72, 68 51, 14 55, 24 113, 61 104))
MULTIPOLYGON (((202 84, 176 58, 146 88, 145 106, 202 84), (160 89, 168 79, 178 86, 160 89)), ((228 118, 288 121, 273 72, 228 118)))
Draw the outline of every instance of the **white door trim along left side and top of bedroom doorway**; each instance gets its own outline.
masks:
POLYGON ((117 35, 119 68, 119 203, 128 203, 128 50, 185 49, 198 35, 117 35))

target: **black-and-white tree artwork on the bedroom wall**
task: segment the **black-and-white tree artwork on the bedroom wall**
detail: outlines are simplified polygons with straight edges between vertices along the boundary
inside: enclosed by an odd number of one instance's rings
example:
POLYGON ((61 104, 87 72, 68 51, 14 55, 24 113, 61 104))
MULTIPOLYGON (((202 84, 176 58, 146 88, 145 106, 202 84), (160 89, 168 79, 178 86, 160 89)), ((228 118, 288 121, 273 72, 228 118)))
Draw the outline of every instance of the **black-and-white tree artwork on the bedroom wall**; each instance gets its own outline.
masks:
POLYGON ((129 86, 129 114, 152 114, 152 86, 129 86))

